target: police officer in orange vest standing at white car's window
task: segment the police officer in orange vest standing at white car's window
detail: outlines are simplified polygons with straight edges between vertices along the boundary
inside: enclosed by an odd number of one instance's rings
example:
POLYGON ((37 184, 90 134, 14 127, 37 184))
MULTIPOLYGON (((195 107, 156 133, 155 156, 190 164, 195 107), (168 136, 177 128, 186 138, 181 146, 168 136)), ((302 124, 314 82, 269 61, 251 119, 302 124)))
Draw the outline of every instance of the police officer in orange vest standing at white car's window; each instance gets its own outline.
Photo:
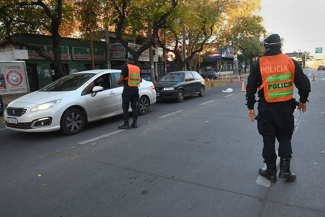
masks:
POLYGON ((131 126, 137 128, 136 121, 138 119, 138 100, 139 100, 139 86, 142 82, 142 75, 139 67, 134 65, 133 58, 126 59, 126 65, 123 66, 120 81, 123 82, 122 93, 122 108, 124 124, 119 126, 119 129, 130 129, 129 125, 129 106, 131 102, 133 123, 131 126))

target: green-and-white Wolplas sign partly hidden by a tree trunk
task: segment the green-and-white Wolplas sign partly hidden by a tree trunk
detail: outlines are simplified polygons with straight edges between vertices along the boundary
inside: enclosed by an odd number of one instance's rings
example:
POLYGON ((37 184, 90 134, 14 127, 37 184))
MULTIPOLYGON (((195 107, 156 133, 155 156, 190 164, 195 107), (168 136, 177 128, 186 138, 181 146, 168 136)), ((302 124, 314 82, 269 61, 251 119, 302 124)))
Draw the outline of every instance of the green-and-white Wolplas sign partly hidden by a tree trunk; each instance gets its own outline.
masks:
MULTIPOLYGON (((40 51, 46 54, 49 57, 53 57, 53 46, 52 45, 41 45, 41 44, 32 44, 35 47, 38 47, 40 51)), ((45 60, 41 57, 36 51, 31 48, 23 47, 24 50, 28 51, 28 59, 30 60, 45 60)), ((69 60, 69 48, 68 46, 60 46, 60 55, 61 60, 69 60)))

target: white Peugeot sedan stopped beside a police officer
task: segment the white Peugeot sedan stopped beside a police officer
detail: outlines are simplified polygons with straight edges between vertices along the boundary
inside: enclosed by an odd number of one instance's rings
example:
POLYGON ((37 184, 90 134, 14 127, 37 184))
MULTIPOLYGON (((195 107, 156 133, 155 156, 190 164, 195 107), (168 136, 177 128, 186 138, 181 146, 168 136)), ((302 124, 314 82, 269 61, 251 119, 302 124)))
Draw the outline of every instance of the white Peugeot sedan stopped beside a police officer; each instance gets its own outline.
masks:
MULTIPOLYGON (((24 132, 60 130, 80 133, 85 123, 123 114, 121 70, 91 70, 67 75, 43 89, 19 97, 5 111, 6 128, 24 132), (102 87, 98 78, 104 78, 102 87)), ((138 112, 156 102, 152 82, 142 80, 138 112)), ((132 111, 130 109, 129 111, 132 111)))

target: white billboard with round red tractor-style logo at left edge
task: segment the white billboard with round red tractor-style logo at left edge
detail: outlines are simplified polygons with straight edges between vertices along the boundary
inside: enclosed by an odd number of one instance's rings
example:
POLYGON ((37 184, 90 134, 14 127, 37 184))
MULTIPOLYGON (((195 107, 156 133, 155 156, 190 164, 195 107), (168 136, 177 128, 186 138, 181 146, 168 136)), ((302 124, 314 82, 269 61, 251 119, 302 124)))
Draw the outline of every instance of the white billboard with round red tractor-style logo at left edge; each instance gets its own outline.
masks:
POLYGON ((28 93, 24 61, 0 61, 0 94, 28 93))

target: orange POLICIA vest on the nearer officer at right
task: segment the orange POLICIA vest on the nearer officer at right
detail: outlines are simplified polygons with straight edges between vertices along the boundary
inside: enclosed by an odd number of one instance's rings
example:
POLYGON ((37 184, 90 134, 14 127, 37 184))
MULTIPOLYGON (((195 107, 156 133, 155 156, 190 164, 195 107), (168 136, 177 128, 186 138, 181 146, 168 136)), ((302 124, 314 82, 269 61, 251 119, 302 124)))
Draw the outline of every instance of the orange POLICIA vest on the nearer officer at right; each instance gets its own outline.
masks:
POLYGON ((282 102, 292 99, 294 63, 286 54, 260 58, 262 85, 266 102, 282 102))

